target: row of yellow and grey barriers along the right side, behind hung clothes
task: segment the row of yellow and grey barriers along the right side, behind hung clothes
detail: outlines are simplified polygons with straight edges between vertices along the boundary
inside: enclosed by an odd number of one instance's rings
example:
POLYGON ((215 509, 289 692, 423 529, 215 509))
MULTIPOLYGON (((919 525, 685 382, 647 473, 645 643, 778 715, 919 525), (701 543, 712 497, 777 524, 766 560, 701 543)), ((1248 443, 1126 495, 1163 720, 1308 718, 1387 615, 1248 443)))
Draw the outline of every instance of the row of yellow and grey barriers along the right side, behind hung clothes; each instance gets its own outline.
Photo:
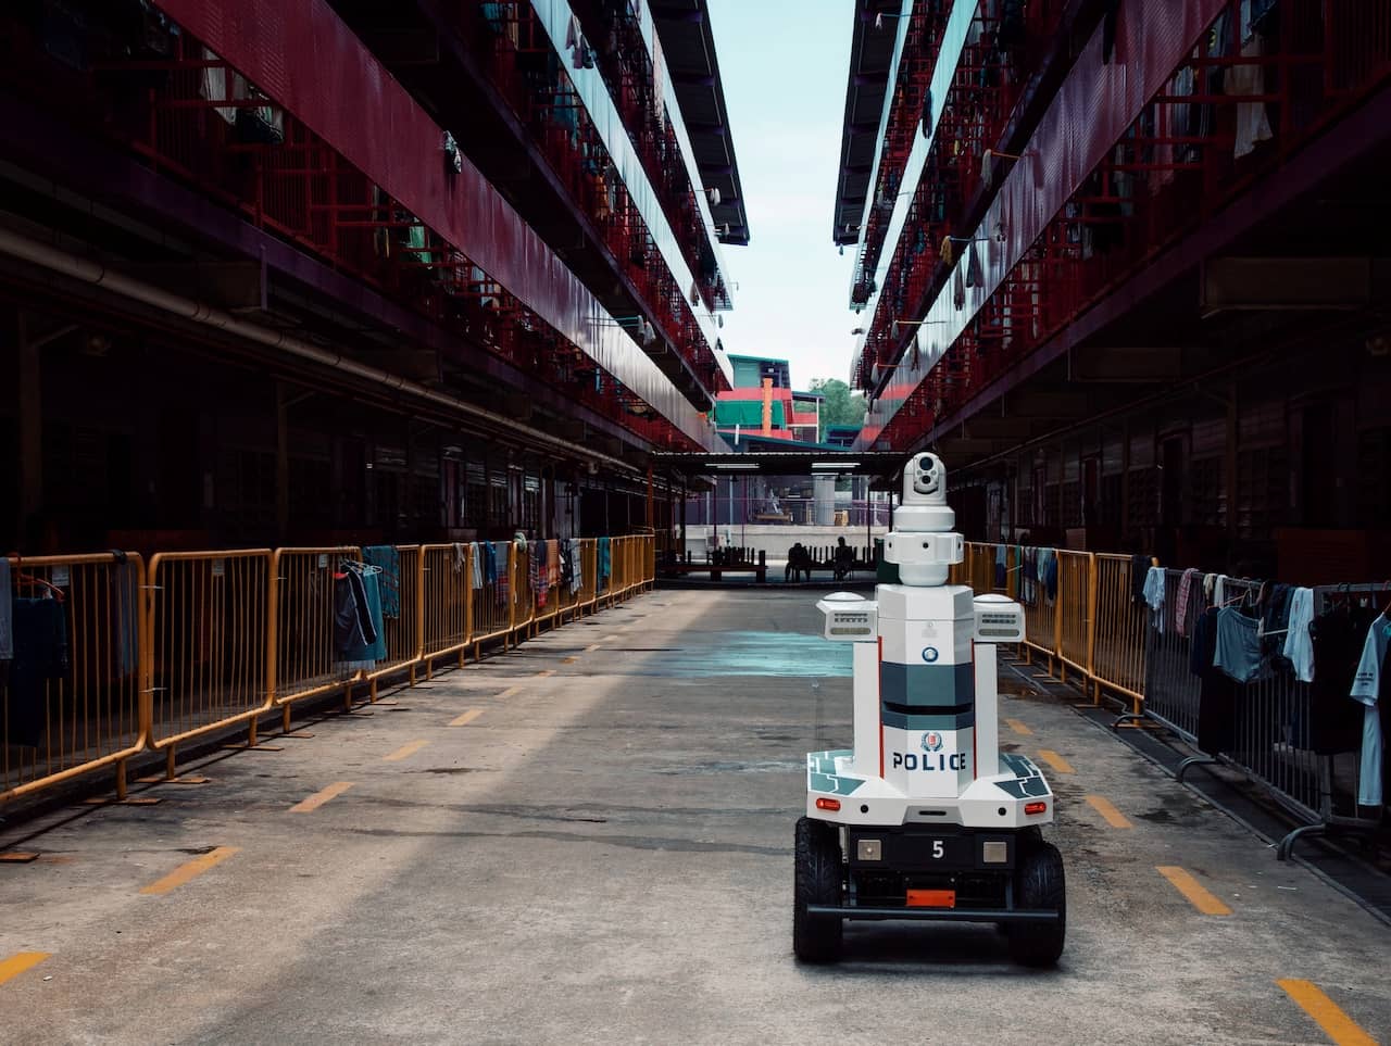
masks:
MULTIPOLYGON (((985 569, 989 563, 995 570, 997 556, 999 545, 967 545, 965 562, 953 568, 953 583, 971 584, 976 591, 997 590, 997 573, 985 569)), ((1281 840, 1281 860, 1302 835, 1376 826, 1377 819, 1360 815, 1356 797, 1346 794, 1346 780, 1356 778, 1356 757, 1328 751, 1328 743, 1320 740, 1327 733, 1320 723, 1327 721, 1328 709, 1317 707, 1309 683, 1267 665, 1246 683, 1224 677, 1220 687, 1230 686, 1230 691, 1219 691, 1225 694, 1221 700, 1209 695, 1213 704, 1205 707, 1198 675, 1205 666, 1193 665, 1192 637, 1210 608, 1196 572, 1189 577, 1180 615, 1182 570, 1163 572, 1163 601, 1153 611, 1136 593, 1141 579, 1134 556, 1007 547, 1011 579, 1015 561, 1018 579, 1007 588, 1024 605, 1025 652, 1047 658, 1049 670, 1056 666, 1064 680, 1071 669, 1093 704, 1100 704, 1103 695, 1117 701, 1124 712, 1117 726, 1153 721, 1202 753, 1180 765, 1180 778, 1191 766, 1220 762, 1269 793, 1302 822, 1281 840)), ((1143 569, 1143 561, 1139 566, 1143 569)), ((1378 588, 1314 588, 1314 612, 1331 601, 1378 588)), ((1256 602, 1257 594, 1259 583, 1225 580, 1228 602, 1256 602)), ((1348 747, 1349 741, 1340 744, 1348 747)))

